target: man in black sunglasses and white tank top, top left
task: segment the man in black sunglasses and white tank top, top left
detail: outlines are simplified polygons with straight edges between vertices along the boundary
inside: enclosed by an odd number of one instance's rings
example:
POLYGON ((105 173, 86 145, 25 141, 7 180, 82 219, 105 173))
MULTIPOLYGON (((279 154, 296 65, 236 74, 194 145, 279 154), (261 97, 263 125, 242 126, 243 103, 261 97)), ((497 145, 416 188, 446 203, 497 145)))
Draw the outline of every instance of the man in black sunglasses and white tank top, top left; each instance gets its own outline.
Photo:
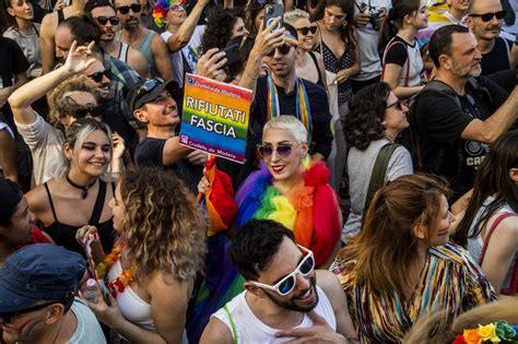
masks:
POLYGON ((101 31, 101 46, 111 57, 131 66, 142 78, 150 76, 150 68, 145 56, 127 45, 115 41, 115 32, 118 29, 119 19, 108 0, 93 0, 84 7, 86 15, 95 22, 101 31))

